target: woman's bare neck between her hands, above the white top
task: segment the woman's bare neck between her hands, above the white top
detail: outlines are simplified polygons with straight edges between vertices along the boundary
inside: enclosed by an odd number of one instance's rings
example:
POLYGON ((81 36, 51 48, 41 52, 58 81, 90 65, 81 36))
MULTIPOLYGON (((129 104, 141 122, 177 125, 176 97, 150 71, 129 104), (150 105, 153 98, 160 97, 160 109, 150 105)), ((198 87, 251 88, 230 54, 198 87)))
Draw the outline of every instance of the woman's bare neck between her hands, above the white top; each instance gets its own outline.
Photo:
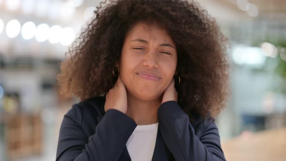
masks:
POLYGON ((137 125, 149 125, 158 122, 158 109, 161 99, 145 101, 127 93, 127 112, 137 125))

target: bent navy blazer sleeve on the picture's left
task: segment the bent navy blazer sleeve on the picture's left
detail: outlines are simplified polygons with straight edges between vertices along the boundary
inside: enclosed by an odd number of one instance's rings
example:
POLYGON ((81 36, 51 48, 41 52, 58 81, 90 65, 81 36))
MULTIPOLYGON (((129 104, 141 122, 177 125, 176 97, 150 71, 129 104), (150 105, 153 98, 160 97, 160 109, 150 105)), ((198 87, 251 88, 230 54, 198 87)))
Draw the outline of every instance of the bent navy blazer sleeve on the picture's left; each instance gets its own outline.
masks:
POLYGON ((108 110, 89 138, 81 126, 82 107, 64 115, 60 128, 56 161, 118 161, 128 138, 136 128, 126 114, 108 110))

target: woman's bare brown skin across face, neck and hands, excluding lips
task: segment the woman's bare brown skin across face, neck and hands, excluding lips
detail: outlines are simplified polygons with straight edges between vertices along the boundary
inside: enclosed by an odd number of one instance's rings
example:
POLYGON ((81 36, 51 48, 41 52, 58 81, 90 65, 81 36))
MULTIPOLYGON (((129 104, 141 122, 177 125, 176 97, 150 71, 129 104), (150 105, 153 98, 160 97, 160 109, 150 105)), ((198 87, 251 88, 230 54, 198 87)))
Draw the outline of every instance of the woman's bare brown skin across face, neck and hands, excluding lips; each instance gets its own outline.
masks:
POLYGON ((160 104, 177 101, 173 79, 177 63, 174 47, 170 36, 159 27, 136 25, 127 34, 120 75, 106 95, 105 111, 116 109, 131 117, 137 125, 157 123, 160 104), (143 69, 154 71, 159 79, 139 77, 138 71, 143 69))

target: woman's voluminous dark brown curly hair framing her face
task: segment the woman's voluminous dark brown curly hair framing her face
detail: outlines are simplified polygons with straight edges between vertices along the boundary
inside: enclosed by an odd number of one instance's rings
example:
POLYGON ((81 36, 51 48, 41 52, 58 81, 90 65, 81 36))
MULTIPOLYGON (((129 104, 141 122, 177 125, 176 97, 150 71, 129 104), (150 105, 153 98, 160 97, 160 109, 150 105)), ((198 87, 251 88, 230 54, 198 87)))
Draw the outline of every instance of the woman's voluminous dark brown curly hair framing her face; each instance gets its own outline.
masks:
POLYGON ((81 100, 102 96, 117 80, 112 74, 125 35, 139 22, 155 22, 175 42, 178 104, 189 114, 206 116, 225 106, 228 40, 214 18, 188 0, 107 0, 65 53, 58 81, 65 96, 81 100))

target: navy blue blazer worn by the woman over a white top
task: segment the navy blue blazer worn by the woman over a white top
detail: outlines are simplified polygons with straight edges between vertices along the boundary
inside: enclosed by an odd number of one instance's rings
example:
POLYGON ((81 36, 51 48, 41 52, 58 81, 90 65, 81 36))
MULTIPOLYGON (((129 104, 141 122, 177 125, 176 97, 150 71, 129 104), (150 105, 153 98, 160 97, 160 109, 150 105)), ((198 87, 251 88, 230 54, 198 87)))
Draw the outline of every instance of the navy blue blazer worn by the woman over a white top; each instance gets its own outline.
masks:
MULTIPOLYGON (((64 115, 56 161, 131 161, 126 143, 137 124, 118 110, 105 113, 104 104, 105 97, 92 97, 64 115)), ((212 117, 190 123, 176 101, 167 101, 158 118, 152 161, 225 161, 212 117)))

